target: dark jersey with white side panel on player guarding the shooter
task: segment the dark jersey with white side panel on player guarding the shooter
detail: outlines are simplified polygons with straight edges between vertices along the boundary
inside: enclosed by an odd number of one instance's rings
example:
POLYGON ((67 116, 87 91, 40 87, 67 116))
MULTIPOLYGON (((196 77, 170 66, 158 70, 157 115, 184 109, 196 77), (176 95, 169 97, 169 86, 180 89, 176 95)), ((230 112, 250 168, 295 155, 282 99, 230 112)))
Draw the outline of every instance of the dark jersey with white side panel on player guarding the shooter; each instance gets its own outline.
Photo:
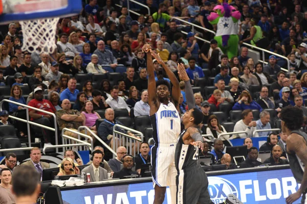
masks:
POLYGON ((199 147, 191 144, 183 143, 183 135, 187 129, 183 130, 178 137, 175 150, 175 166, 177 171, 187 169, 189 167, 196 167, 199 147))

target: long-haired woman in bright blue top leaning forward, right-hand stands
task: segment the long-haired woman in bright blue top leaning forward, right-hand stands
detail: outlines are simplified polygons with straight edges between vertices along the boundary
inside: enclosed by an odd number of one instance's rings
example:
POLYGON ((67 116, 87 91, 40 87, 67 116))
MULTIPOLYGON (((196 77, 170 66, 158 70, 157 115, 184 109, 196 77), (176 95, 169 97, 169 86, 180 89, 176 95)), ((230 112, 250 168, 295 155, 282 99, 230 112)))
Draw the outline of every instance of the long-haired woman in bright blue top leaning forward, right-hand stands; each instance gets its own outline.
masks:
POLYGON ((259 112, 262 111, 261 106, 252 99, 251 94, 248 91, 242 91, 238 101, 232 107, 232 110, 244 111, 246 109, 251 109, 251 110, 256 109, 259 112))

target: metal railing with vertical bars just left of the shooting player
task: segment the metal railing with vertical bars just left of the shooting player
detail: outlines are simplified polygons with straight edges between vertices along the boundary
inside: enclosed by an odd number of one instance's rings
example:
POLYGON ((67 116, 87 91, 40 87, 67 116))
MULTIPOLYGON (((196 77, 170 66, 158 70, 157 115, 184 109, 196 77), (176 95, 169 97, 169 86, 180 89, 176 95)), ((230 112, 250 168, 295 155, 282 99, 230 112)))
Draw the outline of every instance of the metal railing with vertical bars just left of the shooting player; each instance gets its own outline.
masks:
POLYGON ((129 127, 120 125, 120 124, 115 124, 113 126, 113 149, 116 150, 118 146, 126 146, 129 147, 130 150, 130 155, 136 156, 139 154, 139 146, 140 142, 144 141, 144 135, 143 133, 136 131, 134 129, 131 129, 129 127), (119 132, 116 130, 116 128, 119 127, 120 129, 123 129, 125 131, 129 131, 133 133, 135 136, 131 136, 122 132, 119 132), (137 138, 140 137, 140 138, 137 138), (136 149, 137 145, 137 149, 136 149), (133 151, 135 149, 135 151, 133 151), (137 154, 136 154, 137 152, 137 154))

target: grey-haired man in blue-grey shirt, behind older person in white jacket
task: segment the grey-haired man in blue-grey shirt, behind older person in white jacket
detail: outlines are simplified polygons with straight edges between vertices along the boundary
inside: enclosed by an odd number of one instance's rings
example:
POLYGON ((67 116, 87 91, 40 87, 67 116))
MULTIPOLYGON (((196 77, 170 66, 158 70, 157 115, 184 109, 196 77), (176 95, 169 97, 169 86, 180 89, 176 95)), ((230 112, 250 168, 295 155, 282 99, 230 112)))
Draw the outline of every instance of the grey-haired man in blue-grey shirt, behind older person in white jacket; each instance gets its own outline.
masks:
POLYGON ((113 56, 110 50, 105 49, 105 44, 102 40, 98 41, 98 47, 94 54, 98 56, 98 64, 108 64, 113 69, 117 67, 117 59, 113 56))

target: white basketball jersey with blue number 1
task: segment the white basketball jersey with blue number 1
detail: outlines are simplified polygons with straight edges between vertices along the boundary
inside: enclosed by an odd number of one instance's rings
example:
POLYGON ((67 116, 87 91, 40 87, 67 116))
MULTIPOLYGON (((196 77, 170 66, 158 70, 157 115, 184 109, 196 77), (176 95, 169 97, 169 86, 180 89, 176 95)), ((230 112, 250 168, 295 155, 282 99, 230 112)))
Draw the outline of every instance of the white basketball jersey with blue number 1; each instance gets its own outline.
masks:
POLYGON ((155 143, 176 143, 180 134, 180 114, 169 101, 168 105, 160 104, 155 115, 150 116, 155 143))

